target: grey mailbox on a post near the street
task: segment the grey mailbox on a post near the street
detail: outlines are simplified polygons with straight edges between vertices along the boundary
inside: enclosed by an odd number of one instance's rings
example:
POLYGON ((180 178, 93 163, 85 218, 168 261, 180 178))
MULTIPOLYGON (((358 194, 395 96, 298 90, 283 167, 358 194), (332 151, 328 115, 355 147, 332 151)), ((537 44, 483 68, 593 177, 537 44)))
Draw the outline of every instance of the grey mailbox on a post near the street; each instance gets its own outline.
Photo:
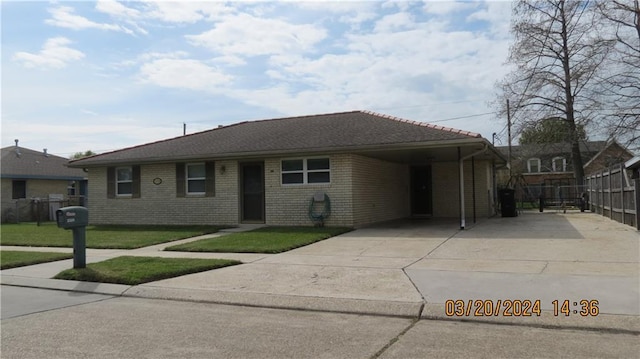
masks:
POLYGON ((73 268, 86 268, 89 211, 81 206, 63 207, 56 211, 56 221, 59 228, 73 231, 73 268))

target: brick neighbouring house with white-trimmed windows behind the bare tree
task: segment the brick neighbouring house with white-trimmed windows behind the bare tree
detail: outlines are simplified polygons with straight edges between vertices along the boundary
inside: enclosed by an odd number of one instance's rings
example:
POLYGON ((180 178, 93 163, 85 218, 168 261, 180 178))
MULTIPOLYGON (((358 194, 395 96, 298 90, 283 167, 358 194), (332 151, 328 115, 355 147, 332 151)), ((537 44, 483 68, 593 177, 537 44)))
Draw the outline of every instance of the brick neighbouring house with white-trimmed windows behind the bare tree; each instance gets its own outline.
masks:
MULTIPOLYGON (((509 148, 499 147, 498 150, 508 157, 509 148)), ((585 175, 608 168, 613 164, 622 163, 633 154, 620 146, 616 141, 585 141, 580 143, 580 153, 585 175)), ((512 146, 511 149, 511 177, 509 169, 502 168, 498 172, 497 182, 506 186, 514 184, 529 186, 530 188, 546 188, 545 198, 555 200, 575 200, 580 197, 582 184, 576 183, 573 161, 571 159, 571 144, 545 143, 512 146), (560 192, 562 193, 560 193, 560 192), (558 197, 558 198, 555 198, 558 197)), ((532 190, 529 197, 537 197, 540 189, 532 190)), ((530 200, 534 198, 529 198, 530 200)))

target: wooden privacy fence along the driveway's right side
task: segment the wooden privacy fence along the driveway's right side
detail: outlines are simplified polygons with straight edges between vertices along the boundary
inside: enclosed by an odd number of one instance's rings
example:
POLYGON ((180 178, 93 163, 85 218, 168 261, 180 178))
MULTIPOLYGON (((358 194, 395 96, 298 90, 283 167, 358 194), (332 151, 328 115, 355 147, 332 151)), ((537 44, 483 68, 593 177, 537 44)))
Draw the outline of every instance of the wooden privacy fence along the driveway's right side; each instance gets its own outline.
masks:
POLYGON ((591 212, 599 213, 640 230, 640 185, 632 180, 624 164, 586 177, 591 212))

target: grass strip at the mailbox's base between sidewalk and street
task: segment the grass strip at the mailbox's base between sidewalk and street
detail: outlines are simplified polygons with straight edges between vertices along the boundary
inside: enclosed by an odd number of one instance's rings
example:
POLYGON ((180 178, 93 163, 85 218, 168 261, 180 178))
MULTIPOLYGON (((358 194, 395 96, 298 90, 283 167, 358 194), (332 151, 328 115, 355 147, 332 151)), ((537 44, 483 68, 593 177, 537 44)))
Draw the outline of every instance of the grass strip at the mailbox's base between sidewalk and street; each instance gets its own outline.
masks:
POLYGON ((67 269, 55 279, 138 285, 241 264, 227 259, 160 258, 123 256, 89 263, 86 268, 67 269))

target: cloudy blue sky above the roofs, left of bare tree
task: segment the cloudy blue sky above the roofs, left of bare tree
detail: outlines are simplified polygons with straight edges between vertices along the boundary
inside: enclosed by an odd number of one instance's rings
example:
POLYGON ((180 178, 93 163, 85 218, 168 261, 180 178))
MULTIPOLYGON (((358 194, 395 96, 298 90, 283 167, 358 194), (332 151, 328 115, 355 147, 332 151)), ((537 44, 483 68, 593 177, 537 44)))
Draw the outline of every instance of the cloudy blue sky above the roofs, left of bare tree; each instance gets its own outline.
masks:
POLYGON ((371 110, 481 133, 508 1, 2 1, 2 147, 68 157, 371 110))

